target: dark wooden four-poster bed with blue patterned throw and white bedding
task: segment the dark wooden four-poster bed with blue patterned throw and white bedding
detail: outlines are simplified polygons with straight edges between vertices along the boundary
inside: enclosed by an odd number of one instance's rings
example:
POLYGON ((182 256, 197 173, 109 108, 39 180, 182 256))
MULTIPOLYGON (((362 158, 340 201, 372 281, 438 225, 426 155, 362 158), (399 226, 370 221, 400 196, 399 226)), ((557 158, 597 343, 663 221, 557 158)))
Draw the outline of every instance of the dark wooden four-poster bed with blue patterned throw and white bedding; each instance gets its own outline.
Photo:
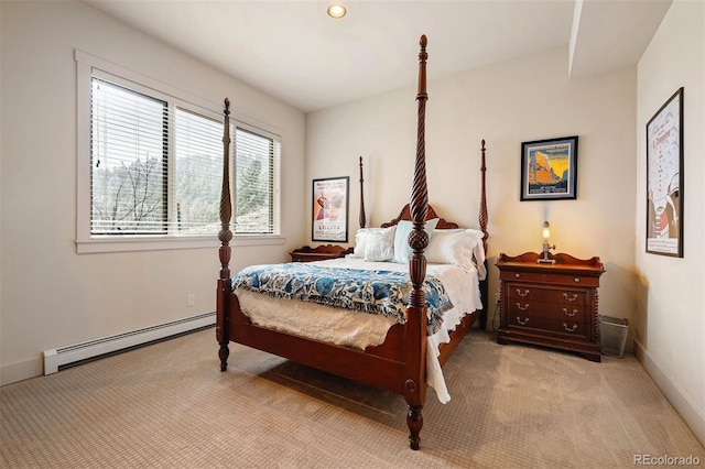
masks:
MULTIPOLYGON (((487 281, 481 283, 478 281, 478 276, 481 276, 479 271, 486 266, 487 251, 485 141, 481 146, 480 168, 482 176, 480 230, 459 229, 457 223, 437 217, 427 201, 424 135, 427 100, 425 36, 421 36, 420 44, 416 96, 417 145, 410 204, 389 223, 383 223, 380 228, 366 229, 365 205, 360 187, 361 230, 356 236, 356 252, 346 259, 251 266, 231 276, 229 270, 229 241, 232 238, 229 229, 231 218, 229 102, 226 99, 224 183, 220 199, 223 226, 218 233, 221 243, 219 249, 221 268, 217 288, 216 319, 221 371, 227 369, 228 343, 232 341, 403 395, 409 406, 406 424, 412 449, 419 449, 420 445, 419 434, 423 426, 422 408, 425 402, 426 383, 434 388, 442 402, 449 399, 445 391, 441 366, 465 337, 482 309, 482 305, 487 304, 486 299, 480 299, 480 290, 486 298, 487 281), (401 238, 405 244, 403 248, 398 243, 402 227, 405 230, 401 238), (394 234, 391 234, 392 231, 394 234), (408 236, 405 236, 406 232, 408 236), (401 262, 390 262, 392 259, 389 253, 384 254, 387 259, 384 255, 381 258, 372 255, 379 252, 376 249, 370 250, 370 246, 381 240, 387 240, 384 242, 388 246, 390 236, 397 238, 394 242, 397 254, 399 251, 406 251, 408 258, 402 259, 401 262), (438 239, 445 239, 444 242, 447 246, 441 247, 438 242, 442 241, 437 241, 438 239), (432 243, 430 247, 431 241, 436 244, 432 243), (362 242, 367 244, 365 251, 362 242), (471 246, 473 243, 475 246, 471 246), (463 251, 465 253, 463 255, 469 255, 474 264, 458 266, 465 261, 458 261, 454 265, 434 263, 424 254, 424 250, 429 247, 427 255, 432 255, 432 250, 435 252, 433 255, 441 258, 463 251), (468 254, 470 252, 471 254, 468 254), (406 259, 408 263, 405 263, 406 259), (303 280, 286 277, 271 281, 268 270, 252 270, 260 268, 283 271, 304 269, 306 276, 303 280), (384 274, 391 276, 403 276, 404 282, 400 283, 402 286, 392 286, 384 283, 387 280, 382 279, 379 280, 380 283, 371 286, 366 283, 371 277, 377 279, 380 270, 389 271, 384 274), (427 275, 427 270, 433 275, 427 275), (319 280, 313 276, 321 272, 327 273, 328 277, 319 280), (348 273, 351 276, 357 275, 351 281, 357 282, 356 288, 340 288, 339 281, 348 273), (276 284, 280 290, 275 293, 258 292, 263 284, 276 284), (299 301, 301 297, 294 296, 291 290, 291 285, 295 284, 299 284, 302 290, 307 290, 310 294, 307 298, 314 303, 299 301), (348 293, 358 290, 362 294, 358 297, 330 299, 332 296, 327 292, 336 288, 347 290, 348 293), (403 297, 402 302, 405 303, 397 306, 392 312, 384 310, 380 314, 378 310, 378 314, 370 314, 378 307, 376 302, 381 295, 380 291, 391 292, 390 296, 403 297), (448 301, 443 303, 446 293, 448 301), (345 305, 350 306, 352 310, 343 309, 341 306, 345 305), (293 314, 290 307, 294 308, 293 314), (270 317, 271 314, 274 318, 270 317), (313 316, 306 316, 307 314, 313 316), (297 316, 303 316, 303 321, 290 320, 297 316), (356 319, 351 319, 352 317, 356 319), (362 323, 357 321, 358 319, 362 323), (304 330, 311 324, 321 327, 318 330, 304 330), (338 329, 340 334, 336 336, 338 329)), ((360 161, 360 186, 361 174, 360 161)), ((382 246, 384 242, 376 246, 382 246)), ((381 301, 381 303, 389 302, 389 298, 381 301)))

